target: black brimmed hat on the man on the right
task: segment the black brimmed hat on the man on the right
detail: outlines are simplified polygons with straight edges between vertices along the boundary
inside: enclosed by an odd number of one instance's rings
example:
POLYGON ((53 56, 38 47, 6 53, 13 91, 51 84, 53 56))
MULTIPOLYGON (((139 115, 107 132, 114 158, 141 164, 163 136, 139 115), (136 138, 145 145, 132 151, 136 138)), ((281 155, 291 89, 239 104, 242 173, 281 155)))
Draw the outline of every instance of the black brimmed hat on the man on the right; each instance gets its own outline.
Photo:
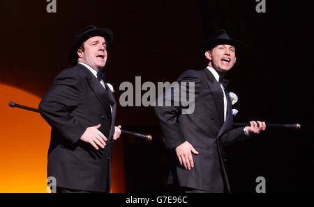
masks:
POLYGON ((219 44, 230 44, 235 49, 243 49, 244 43, 239 40, 234 40, 225 29, 219 29, 212 33, 209 38, 202 44, 202 53, 207 50, 213 49, 219 44))

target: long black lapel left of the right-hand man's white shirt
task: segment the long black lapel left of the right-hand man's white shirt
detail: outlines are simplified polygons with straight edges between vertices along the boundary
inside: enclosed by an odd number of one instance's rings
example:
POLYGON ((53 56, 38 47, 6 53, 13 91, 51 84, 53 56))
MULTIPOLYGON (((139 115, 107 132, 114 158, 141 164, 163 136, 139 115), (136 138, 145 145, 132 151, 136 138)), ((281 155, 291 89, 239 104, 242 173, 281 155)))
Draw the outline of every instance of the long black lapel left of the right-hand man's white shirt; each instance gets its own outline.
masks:
POLYGON ((214 75, 211 74, 211 72, 209 72, 209 69, 205 68, 203 72, 205 73, 205 76, 206 76, 207 85, 209 86, 209 89, 211 90, 213 94, 215 105, 218 111, 220 126, 222 126, 223 120, 224 120, 223 91, 221 90, 221 87, 219 83, 216 81, 214 75))

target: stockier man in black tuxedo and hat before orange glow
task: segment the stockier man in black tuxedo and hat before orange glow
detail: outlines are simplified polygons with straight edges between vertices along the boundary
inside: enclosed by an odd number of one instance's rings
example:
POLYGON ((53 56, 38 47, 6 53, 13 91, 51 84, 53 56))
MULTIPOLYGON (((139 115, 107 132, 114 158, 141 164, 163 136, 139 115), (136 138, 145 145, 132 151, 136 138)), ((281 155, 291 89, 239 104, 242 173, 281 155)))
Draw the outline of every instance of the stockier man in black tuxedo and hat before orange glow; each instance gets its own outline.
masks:
POLYGON ((48 177, 57 192, 110 192, 112 142, 121 126, 114 126, 116 101, 103 78, 109 28, 90 25, 75 35, 69 61, 40 101, 40 114, 52 127, 48 177))

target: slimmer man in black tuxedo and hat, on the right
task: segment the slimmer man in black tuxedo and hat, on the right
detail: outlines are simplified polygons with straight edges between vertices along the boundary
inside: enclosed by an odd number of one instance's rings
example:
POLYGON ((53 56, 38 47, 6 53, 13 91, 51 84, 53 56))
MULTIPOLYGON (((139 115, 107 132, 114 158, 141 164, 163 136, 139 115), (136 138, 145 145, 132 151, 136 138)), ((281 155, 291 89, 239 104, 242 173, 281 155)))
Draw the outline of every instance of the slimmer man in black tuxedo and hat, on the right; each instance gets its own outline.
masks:
POLYGON ((203 44, 207 68, 179 76, 179 86, 194 83, 194 88, 181 90, 181 94, 194 92, 189 100, 193 112, 183 113, 184 104, 174 106, 175 89, 158 97, 158 103, 172 104, 155 107, 166 147, 172 150, 168 183, 183 192, 230 192, 223 147, 266 129, 260 121, 232 129, 232 104, 222 79, 236 63, 236 49, 241 44, 225 30, 216 31, 203 44))

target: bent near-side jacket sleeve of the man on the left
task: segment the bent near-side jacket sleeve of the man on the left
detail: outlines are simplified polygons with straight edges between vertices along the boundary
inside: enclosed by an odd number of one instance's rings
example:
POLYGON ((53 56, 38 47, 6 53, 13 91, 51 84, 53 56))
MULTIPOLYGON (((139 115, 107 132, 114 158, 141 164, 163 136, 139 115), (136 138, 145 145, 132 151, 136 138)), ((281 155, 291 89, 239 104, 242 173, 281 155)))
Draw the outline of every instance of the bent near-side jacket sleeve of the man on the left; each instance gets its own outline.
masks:
POLYGON ((63 70, 39 104, 40 115, 73 144, 86 127, 71 115, 80 101, 80 78, 73 69, 63 70))

